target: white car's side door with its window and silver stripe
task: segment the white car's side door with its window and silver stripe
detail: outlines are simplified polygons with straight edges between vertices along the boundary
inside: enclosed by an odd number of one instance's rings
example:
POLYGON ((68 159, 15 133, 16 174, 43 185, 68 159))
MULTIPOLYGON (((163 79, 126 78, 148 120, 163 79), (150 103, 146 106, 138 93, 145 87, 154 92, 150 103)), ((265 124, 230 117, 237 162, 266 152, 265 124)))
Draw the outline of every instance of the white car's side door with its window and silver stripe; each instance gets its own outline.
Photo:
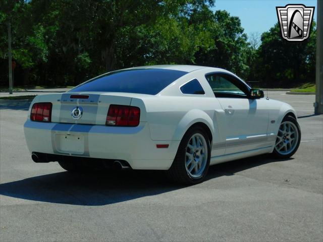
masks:
POLYGON ((226 136, 226 154, 270 145, 267 100, 251 98, 250 88, 230 74, 210 74, 206 79, 225 112, 226 122, 220 129, 226 136))

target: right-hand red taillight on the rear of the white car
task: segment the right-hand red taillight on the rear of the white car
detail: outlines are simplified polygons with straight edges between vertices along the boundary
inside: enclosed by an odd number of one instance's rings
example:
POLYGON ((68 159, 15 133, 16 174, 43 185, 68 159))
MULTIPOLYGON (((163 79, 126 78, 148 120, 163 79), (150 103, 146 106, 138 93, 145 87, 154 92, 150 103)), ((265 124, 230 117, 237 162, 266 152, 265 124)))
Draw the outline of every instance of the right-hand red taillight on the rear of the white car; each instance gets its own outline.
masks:
POLYGON ((110 105, 106 115, 107 126, 131 126, 139 125, 140 108, 125 105, 110 105))

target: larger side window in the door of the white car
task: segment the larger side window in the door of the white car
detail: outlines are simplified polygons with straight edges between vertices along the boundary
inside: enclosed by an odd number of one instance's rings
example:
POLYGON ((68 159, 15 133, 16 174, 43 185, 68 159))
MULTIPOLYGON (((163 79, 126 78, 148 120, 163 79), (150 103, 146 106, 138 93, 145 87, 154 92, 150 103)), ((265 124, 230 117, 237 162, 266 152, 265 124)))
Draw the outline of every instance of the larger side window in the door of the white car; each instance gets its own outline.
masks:
POLYGON ((247 97, 247 88, 234 77, 223 74, 211 74, 206 76, 206 80, 216 97, 247 97))

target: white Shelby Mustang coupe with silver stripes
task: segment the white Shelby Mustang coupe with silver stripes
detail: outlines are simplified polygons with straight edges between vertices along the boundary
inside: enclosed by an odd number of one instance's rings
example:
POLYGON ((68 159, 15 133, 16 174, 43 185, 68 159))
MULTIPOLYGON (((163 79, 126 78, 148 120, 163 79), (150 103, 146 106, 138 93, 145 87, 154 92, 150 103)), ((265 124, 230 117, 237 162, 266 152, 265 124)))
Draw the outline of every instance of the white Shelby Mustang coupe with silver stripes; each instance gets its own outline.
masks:
POLYGON ((290 157, 301 138, 287 103, 226 70, 179 65, 114 71, 36 96, 24 130, 35 162, 166 170, 186 184, 202 181, 209 165, 290 157))

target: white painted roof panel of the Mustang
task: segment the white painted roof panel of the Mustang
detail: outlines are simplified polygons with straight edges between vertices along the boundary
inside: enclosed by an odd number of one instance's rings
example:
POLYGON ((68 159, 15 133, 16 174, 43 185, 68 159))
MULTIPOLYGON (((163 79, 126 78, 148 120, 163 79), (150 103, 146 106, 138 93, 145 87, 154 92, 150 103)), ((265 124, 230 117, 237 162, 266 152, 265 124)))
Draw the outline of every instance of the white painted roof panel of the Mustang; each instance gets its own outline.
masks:
MULTIPOLYGON (((209 69, 211 67, 203 67, 203 66, 192 66, 192 65, 155 65, 155 66, 142 66, 142 67, 132 67, 127 68, 124 70, 135 70, 135 69, 168 69, 168 70, 175 70, 175 71, 182 71, 182 72, 193 72, 201 69, 209 69)), ((220 72, 228 72, 221 68, 212 68, 213 71, 220 71, 220 72)))

